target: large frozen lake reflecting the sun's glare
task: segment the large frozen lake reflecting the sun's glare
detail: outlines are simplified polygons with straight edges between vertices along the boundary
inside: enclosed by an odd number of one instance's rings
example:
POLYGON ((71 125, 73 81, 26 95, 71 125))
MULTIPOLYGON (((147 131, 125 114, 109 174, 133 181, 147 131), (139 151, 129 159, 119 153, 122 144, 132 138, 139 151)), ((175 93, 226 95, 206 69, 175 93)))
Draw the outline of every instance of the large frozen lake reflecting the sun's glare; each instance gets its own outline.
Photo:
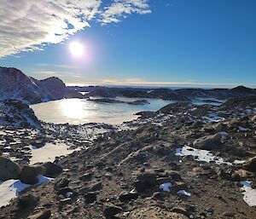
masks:
MULTIPOLYGON (((118 98, 120 101, 143 99, 118 98)), ((106 123, 122 124, 137 118, 134 114, 142 111, 156 111, 173 101, 147 99, 150 104, 130 105, 125 103, 96 103, 83 99, 64 99, 32 105, 36 116, 44 122, 54 124, 106 123)))

